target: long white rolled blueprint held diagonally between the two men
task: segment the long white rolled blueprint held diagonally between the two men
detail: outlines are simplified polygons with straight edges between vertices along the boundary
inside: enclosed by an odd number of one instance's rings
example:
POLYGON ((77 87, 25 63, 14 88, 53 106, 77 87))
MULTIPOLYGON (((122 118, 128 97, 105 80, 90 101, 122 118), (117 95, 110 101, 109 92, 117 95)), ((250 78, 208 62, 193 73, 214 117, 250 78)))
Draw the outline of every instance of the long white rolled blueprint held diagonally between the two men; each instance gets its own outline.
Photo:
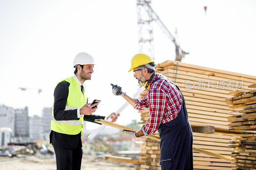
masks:
MULTIPOLYGON (((141 92, 143 92, 145 90, 145 87, 144 86, 142 86, 139 90, 138 90, 138 92, 136 92, 132 97, 137 97, 137 96, 139 96, 139 94, 141 93, 141 92)), ((120 107, 117 111, 116 111, 116 114, 120 114, 120 112, 122 112, 124 109, 125 109, 125 107, 127 107, 129 105, 129 102, 127 101, 126 103, 124 103, 124 105, 122 106, 122 107, 120 107)), ((112 119, 111 119, 111 116, 107 119, 107 121, 108 122, 111 122, 112 121, 112 119)), ((92 132, 89 136, 88 136, 88 139, 90 139, 90 140, 92 140, 94 137, 96 137, 100 132, 101 132, 101 130, 103 130, 105 127, 106 127, 107 125, 104 125, 104 124, 102 124, 102 125, 100 125, 100 127, 98 128, 98 129, 96 129, 96 130, 94 130, 94 132, 92 132)))

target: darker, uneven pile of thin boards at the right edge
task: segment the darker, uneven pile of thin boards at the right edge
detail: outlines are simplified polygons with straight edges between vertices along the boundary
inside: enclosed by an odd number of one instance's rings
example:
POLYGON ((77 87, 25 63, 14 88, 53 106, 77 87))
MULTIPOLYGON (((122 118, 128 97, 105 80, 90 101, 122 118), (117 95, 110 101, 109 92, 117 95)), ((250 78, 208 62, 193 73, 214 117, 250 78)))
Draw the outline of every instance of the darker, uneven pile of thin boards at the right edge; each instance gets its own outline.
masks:
MULTIPOLYGON (((248 87, 256 88, 256 84, 248 87)), ((230 92, 233 97, 226 99, 231 105, 231 113, 227 116, 229 130, 244 130, 235 134, 228 147, 232 148, 232 167, 236 169, 256 170, 256 89, 251 91, 230 92), (247 133, 245 133, 247 132, 247 133)))

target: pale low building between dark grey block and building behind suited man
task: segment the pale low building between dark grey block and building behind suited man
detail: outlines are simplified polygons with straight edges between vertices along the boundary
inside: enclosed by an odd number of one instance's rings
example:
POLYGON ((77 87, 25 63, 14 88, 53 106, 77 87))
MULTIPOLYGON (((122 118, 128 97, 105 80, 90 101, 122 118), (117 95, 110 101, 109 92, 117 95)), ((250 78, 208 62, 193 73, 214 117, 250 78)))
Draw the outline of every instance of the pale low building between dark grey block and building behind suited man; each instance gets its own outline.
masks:
POLYGON ((29 138, 43 139, 43 119, 37 115, 29 117, 29 138))

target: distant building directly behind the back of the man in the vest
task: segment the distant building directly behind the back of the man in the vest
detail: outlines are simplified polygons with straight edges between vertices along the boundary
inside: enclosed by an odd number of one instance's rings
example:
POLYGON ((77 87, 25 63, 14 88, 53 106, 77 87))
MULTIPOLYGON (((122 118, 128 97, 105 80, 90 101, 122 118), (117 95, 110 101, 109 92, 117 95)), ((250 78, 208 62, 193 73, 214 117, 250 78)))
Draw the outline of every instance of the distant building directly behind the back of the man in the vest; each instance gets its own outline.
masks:
POLYGON ((43 120, 43 132, 50 134, 51 120, 52 120, 52 107, 43 108, 42 120, 43 120))

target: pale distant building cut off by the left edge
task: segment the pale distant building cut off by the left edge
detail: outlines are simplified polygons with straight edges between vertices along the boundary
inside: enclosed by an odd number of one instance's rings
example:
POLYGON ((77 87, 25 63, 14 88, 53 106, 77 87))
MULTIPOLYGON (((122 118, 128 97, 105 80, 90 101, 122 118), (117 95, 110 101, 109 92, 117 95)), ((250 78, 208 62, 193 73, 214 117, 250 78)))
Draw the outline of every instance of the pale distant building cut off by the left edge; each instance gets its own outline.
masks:
POLYGON ((12 107, 0 106, 0 128, 11 128, 14 135, 15 112, 12 107))

